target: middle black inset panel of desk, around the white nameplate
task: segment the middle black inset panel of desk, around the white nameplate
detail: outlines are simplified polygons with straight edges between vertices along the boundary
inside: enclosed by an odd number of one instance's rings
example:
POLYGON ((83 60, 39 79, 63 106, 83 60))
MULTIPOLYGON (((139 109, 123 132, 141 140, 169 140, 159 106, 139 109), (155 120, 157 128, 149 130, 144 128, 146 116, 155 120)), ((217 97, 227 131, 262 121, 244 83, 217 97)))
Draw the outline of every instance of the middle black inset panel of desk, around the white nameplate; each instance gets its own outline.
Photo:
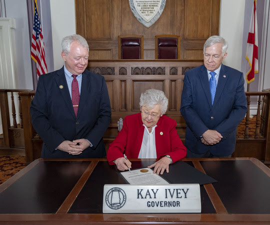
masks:
MULTIPOLYGON (((132 169, 146 167, 153 162, 152 160, 132 161, 132 169)), ((109 165, 107 161, 99 161, 68 213, 102 213, 104 184, 125 184, 125 181, 118 175, 115 165, 109 165)), ((201 213, 216 213, 203 185, 200 185, 200 194, 201 213)))

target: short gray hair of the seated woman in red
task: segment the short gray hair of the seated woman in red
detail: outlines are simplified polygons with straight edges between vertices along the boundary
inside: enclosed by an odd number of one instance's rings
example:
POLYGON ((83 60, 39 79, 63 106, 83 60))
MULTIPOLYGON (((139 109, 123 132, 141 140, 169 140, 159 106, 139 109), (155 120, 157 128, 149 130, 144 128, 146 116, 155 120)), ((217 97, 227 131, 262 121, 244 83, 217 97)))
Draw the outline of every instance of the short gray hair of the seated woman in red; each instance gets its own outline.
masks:
POLYGON ((159 104, 161 114, 165 114, 168 106, 168 98, 162 90, 148 89, 140 94, 139 106, 152 109, 156 104, 159 104))

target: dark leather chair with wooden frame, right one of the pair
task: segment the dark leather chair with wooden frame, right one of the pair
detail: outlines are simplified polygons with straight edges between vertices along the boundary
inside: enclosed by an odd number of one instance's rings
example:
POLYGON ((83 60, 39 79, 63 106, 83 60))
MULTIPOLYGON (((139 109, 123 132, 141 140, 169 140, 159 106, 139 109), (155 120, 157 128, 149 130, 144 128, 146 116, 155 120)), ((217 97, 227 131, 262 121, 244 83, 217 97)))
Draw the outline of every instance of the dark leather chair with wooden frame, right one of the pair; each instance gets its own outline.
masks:
POLYGON ((180 36, 164 34, 155 36, 155 58, 179 59, 180 36))

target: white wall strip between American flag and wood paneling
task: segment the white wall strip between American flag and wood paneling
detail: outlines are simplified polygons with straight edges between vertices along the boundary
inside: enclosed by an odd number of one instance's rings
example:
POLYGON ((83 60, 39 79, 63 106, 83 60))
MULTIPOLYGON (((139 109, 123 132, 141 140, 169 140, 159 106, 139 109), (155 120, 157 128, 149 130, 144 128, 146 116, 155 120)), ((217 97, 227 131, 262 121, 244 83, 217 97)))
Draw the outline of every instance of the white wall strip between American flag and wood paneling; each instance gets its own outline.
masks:
POLYGON ((76 33, 74 0, 50 0, 51 33, 54 69, 63 66, 61 40, 64 36, 76 33))

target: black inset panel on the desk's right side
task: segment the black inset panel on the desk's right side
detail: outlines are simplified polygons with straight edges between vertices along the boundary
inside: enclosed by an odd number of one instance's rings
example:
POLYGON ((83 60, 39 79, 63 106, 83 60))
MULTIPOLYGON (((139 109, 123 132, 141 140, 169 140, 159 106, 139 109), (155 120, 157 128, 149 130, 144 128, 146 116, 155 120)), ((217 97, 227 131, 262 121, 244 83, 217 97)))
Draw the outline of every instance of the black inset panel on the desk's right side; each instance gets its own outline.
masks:
POLYGON ((250 160, 200 161, 228 213, 269 214, 270 177, 250 160))

